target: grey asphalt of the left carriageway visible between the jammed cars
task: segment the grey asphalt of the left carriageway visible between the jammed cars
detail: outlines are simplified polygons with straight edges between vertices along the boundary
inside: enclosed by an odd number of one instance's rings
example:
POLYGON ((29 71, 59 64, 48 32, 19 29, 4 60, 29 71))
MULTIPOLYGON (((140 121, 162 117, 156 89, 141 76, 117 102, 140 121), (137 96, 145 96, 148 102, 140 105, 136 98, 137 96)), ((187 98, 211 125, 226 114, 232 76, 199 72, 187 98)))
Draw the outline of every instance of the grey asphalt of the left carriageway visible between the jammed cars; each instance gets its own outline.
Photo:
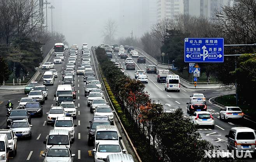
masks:
MULTIPOLYGON (((46 124, 47 115, 51 108, 51 106, 55 106, 55 98, 54 93, 58 87, 58 84, 62 84, 62 75, 61 72, 65 70, 65 65, 68 62, 68 51, 64 52, 65 60, 62 64, 55 64, 55 69, 58 71, 58 78, 55 78, 54 85, 47 85, 46 88, 48 89, 48 99, 46 100, 43 106, 44 115, 42 117, 34 117, 32 118, 32 139, 18 139, 17 144, 17 154, 14 158, 10 159, 12 162, 24 162, 24 161, 31 161, 31 162, 38 162, 42 161, 44 158, 41 157, 41 154, 44 152, 46 146, 43 144, 43 141, 46 140, 46 136, 49 134, 49 131, 53 129, 51 125, 46 124)), ((77 61, 75 70, 81 64, 81 50, 77 51, 77 61)), ((53 56, 50 57, 49 62, 53 62, 53 56)), ((91 58, 91 66, 93 67, 93 71, 95 73, 95 77, 98 78, 98 68, 95 69, 95 56, 91 58)), ((47 70, 42 70, 43 73, 47 70)), ((39 84, 42 84, 42 76, 37 79, 39 80, 39 84)), ((100 79, 101 80, 101 79, 100 79)), ((104 87, 102 86, 103 91, 105 91, 104 87)), ((77 106, 77 118, 74 119, 74 124, 77 125, 75 127, 75 141, 71 146, 72 153, 75 153, 74 161, 77 162, 92 162, 93 161, 93 153, 91 150, 93 146, 88 146, 88 129, 86 128, 89 126, 89 120, 93 117, 93 114, 90 113, 89 107, 87 106, 87 98, 84 96, 84 82, 82 75, 75 75, 75 90, 77 91, 77 96, 75 100, 75 106, 77 106)), ((106 94, 105 99, 108 101, 106 94)), ((5 104, 10 99, 12 103, 14 103, 14 108, 17 108, 18 101, 22 98, 26 97, 24 92, 16 92, 16 91, 0 91, 0 127, 1 129, 6 128, 6 108, 5 104)), ((117 123, 117 128, 123 137, 121 140, 120 145, 122 148, 128 150, 128 153, 133 154, 131 151, 130 146, 127 144, 124 146, 124 143, 127 143, 126 138, 124 137, 120 125, 118 125, 117 119, 115 118, 117 123)), ((134 157, 134 156, 133 156, 134 157)))

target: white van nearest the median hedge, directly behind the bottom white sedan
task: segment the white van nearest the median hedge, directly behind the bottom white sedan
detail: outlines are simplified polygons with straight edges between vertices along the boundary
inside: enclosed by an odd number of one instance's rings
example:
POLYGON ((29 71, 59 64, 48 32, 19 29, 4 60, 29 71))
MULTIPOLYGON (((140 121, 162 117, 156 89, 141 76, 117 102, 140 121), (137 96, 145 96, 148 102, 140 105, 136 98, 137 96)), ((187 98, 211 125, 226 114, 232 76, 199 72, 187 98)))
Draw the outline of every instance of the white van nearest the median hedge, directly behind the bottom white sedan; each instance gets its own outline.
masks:
POLYGON ((98 145, 100 141, 117 141, 122 139, 118 136, 118 131, 114 125, 97 125, 95 129, 95 140, 94 148, 98 145), (109 140, 108 140, 109 139, 109 140))

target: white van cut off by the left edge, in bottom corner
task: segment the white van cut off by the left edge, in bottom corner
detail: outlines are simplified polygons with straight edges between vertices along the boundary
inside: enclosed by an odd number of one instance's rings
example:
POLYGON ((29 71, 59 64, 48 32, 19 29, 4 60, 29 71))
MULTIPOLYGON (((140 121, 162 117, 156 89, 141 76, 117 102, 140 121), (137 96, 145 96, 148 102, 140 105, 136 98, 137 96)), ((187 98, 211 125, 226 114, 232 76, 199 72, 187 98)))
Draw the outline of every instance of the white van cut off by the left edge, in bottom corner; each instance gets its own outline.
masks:
POLYGON ((9 152, 12 151, 11 148, 8 147, 8 139, 6 134, 0 134, 0 162, 8 162, 9 161, 9 152))

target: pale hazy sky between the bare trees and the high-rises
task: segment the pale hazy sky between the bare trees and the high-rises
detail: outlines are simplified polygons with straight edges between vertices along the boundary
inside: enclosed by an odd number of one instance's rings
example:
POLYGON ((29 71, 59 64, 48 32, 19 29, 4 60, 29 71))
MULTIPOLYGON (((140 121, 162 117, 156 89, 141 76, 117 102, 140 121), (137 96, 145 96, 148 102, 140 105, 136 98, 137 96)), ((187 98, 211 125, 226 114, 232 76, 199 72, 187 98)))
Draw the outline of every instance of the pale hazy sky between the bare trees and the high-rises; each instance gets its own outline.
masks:
MULTIPOLYGON (((142 1, 145 0, 48 0, 55 7, 53 31, 63 33, 69 45, 79 46, 102 43, 103 28, 108 19, 118 25, 115 38, 128 37, 132 30, 133 36, 142 35, 142 1)), ((47 10, 47 15, 50 31, 51 9, 47 10)))

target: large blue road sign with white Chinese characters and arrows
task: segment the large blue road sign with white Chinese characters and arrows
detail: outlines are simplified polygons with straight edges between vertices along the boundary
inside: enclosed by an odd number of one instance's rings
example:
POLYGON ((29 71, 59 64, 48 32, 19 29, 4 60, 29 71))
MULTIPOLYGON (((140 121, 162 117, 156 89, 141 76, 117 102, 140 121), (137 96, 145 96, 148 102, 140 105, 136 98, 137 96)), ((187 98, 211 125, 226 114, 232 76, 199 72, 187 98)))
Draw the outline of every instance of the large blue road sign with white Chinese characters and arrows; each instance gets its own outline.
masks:
POLYGON ((185 38, 184 61, 190 63, 224 62, 223 38, 185 38))

